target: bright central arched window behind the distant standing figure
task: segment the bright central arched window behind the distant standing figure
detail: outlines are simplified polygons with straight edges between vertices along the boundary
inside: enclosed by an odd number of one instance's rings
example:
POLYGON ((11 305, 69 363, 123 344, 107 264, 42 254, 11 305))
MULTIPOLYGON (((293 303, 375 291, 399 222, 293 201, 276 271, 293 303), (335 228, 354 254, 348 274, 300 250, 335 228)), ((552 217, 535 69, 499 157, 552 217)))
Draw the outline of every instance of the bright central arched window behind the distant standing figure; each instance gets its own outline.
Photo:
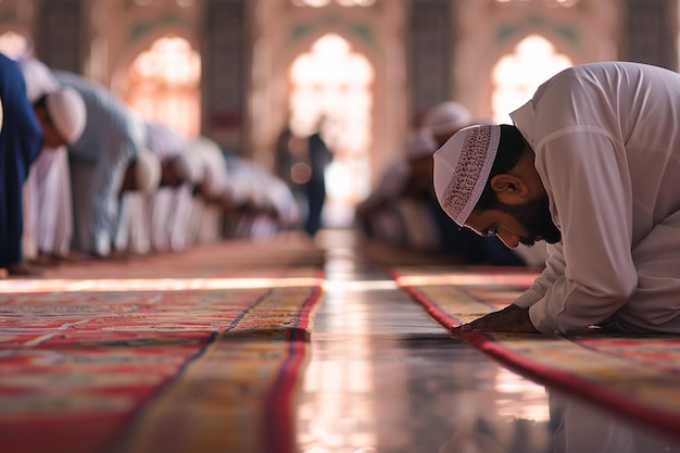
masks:
POLYGON ((289 74, 290 128, 306 136, 323 119, 322 134, 333 151, 326 173, 329 205, 353 206, 369 189, 373 66, 345 39, 328 34, 294 60, 289 74))

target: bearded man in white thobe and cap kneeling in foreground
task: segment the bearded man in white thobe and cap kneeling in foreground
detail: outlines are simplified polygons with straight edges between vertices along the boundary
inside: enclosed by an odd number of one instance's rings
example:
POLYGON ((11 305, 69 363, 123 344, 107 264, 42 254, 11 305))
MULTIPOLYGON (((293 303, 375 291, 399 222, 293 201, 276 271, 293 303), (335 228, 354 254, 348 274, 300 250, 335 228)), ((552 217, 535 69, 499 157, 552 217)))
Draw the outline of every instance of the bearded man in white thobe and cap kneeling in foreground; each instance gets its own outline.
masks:
POLYGON ((605 62, 570 67, 511 114, 435 154, 461 226, 506 246, 549 243, 534 285, 465 329, 680 334, 680 75, 605 62))

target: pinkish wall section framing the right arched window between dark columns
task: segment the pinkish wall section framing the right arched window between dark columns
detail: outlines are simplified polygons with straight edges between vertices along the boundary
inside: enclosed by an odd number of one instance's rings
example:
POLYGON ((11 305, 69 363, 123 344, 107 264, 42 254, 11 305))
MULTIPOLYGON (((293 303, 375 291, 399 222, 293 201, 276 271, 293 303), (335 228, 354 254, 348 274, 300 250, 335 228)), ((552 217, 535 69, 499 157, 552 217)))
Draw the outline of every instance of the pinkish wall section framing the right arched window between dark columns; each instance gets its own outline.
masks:
MULTIPOLYGON (((618 58, 616 0, 581 0, 554 8, 543 0, 461 0, 457 4, 456 58, 452 91, 476 116, 492 114, 491 72, 501 56, 529 35, 549 39, 575 64, 618 58)), ((519 105, 517 105, 519 106, 519 105)))

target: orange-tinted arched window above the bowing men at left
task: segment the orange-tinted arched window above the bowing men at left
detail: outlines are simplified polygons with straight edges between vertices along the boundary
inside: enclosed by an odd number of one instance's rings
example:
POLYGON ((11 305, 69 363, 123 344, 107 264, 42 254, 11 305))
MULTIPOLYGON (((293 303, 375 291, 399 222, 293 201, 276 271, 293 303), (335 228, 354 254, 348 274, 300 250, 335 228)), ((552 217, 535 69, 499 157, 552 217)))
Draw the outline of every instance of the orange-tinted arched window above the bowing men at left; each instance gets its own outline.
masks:
POLYGON ((199 53, 186 39, 168 35, 130 65, 125 100, 146 119, 193 138, 200 134, 200 79, 199 53))

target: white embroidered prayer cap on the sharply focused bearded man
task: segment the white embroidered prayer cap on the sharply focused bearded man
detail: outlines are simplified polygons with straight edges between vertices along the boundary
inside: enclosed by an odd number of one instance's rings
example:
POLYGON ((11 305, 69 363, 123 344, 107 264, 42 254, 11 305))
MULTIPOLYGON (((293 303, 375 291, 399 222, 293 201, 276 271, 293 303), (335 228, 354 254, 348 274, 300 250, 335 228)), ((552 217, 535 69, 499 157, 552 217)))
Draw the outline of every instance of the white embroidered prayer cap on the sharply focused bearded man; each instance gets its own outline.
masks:
POLYGON ((435 193, 444 212, 465 225, 491 173, 501 126, 469 126, 458 130, 435 153, 435 193))

